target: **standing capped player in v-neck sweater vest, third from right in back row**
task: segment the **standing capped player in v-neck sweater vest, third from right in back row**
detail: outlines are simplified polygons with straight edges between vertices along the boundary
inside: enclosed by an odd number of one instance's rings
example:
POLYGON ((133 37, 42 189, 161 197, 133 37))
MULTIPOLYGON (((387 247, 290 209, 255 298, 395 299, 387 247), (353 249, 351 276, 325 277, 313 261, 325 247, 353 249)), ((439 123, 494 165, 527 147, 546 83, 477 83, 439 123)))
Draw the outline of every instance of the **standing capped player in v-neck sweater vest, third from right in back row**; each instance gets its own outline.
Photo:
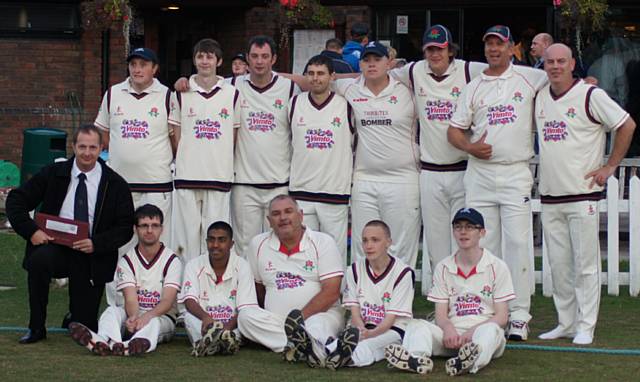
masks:
POLYGON ((447 141, 449 120, 462 89, 487 65, 455 59, 458 47, 444 25, 427 28, 422 49, 424 60, 389 74, 413 90, 420 118, 422 293, 427 295, 433 267, 456 249, 451 230, 442 222, 451 221, 464 206, 468 154, 447 141))

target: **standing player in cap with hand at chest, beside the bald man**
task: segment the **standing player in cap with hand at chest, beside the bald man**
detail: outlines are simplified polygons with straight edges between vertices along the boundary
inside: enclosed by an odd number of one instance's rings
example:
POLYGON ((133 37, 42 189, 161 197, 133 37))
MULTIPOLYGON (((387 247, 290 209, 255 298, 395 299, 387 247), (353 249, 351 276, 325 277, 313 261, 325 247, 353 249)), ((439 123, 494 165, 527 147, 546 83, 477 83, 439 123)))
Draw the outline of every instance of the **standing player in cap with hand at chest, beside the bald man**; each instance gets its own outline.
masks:
POLYGON ((453 146, 469 153, 466 205, 487 221, 483 246, 511 270, 516 298, 509 306, 507 335, 524 341, 533 284, 533 103, 547 76, 511 63, 513 38, 508 27, 489 28, 483 41, 489 67, 462 91, 447 134, 453 146))

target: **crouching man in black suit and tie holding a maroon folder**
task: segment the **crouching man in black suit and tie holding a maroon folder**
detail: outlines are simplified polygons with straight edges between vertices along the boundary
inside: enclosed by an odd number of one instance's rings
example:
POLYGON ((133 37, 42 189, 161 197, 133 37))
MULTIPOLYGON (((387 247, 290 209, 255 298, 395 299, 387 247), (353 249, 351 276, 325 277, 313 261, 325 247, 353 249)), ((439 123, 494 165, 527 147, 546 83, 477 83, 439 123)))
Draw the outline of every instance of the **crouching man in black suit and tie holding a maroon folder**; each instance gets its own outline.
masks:
POLYGON ((43 168, 7 198, 7 216, 27 240, 23 268, 28 272, 28 344, 46 338, 45 320, 51 278, 69 277, 69 309, 74 321, 98 329, 104 284, 113 279, 118 247, 133 236, 133 201, 127 182, 101 159, 102 138, 94 126, 73 135, 74 156, 43 168), (89 238, 72 247, 56 244, 38 228, 29 211, 86 221, 89 238))

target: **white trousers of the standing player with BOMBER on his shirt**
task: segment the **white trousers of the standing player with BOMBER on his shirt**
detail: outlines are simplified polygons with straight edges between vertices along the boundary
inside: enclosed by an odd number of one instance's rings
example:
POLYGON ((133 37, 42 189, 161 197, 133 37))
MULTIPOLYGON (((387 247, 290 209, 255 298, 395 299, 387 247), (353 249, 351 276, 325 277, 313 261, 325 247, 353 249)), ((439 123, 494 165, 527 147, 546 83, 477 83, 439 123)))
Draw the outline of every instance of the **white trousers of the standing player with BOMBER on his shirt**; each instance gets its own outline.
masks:
POLYGON ((351 262, 364 257, 362 229, 371 220, 391 229, 389 253, 415 269, 420 242, 420 185, 358 180, 351 191, 351 262))

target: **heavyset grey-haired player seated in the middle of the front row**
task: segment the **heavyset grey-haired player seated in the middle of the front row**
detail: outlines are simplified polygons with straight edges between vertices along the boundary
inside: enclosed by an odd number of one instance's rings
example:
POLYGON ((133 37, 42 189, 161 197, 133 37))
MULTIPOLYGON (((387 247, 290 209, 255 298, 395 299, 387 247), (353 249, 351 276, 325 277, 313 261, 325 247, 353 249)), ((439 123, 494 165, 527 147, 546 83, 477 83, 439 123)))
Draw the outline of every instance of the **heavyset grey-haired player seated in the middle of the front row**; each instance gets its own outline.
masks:
POLYGON ((286 361, 324 366, 324 345, 344 328, 338 304, 344 265, 333 238, 302 225, 295 199, 269 203, 271 231, 251 240, 247 259, 264 309, 240 310, 242 335, 286 361))

